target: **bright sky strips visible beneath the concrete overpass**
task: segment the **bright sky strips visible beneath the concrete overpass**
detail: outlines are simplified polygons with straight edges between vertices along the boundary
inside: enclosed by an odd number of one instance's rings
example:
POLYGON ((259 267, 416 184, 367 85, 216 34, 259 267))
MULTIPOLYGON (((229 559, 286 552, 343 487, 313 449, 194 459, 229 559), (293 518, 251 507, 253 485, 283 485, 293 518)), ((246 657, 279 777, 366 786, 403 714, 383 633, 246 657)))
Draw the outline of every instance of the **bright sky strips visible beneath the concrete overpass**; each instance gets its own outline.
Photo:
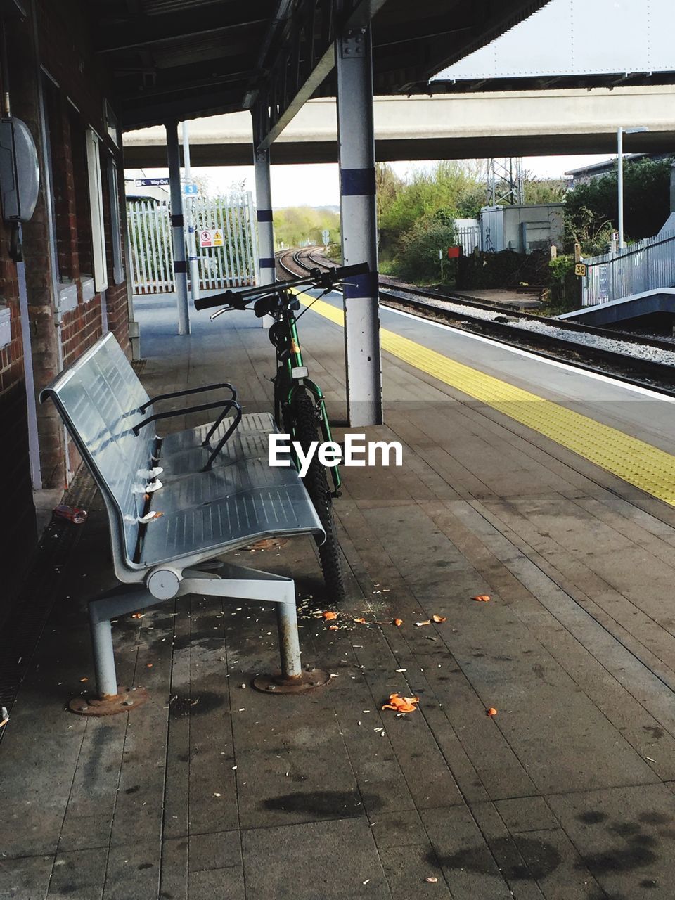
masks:
MULTIPOLYGON (((525 157, 527 172, 538 178, 561 178, 568 169, 580 168, 589 163, 607 159, 601 156, 525 157)), ((405 177, 424 162, 396 162, 392 167, 397 175, 405 177)), ((166 169, 128 169, 127 177, 166 176, 166 169)), ((254 190, 253 166, 193 167, 193 175, 208 179, 212 193, 227 193, 233 184, 245 183, 247 191, 254 190)), ((336 163, 318 163, 311 166, 272 166, 272 204, 275 209, 283 206, 338 206, 340 202, 338 166, 336 163)))

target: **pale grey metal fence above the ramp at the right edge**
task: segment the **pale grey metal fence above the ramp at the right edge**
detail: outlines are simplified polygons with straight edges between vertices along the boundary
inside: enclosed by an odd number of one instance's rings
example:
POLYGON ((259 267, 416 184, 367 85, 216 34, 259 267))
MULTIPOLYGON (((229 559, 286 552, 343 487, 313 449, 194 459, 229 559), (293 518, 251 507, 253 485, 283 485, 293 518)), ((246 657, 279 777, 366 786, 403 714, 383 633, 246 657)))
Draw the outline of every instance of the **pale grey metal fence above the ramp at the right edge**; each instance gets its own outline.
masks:
POLYGON ((631 244, 617 253, 584 259, 584 306, 675 286, 675 231, 631 244))

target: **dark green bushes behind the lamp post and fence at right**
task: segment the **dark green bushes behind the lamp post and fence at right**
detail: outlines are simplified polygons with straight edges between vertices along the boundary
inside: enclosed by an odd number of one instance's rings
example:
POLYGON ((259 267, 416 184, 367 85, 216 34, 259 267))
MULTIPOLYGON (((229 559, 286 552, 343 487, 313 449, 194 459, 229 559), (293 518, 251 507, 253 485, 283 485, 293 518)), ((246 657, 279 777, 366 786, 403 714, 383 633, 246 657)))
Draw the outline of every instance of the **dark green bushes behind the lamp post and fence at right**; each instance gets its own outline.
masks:
MULTIPOLYGON (((670 212, 671 164, 667 159, 624 163, 626 240, 651 238, 670 212)), ((581 244, 585 256, 607 253, 618 226, 617 172, 579 184, 565 195, 568 243, 581 244)))

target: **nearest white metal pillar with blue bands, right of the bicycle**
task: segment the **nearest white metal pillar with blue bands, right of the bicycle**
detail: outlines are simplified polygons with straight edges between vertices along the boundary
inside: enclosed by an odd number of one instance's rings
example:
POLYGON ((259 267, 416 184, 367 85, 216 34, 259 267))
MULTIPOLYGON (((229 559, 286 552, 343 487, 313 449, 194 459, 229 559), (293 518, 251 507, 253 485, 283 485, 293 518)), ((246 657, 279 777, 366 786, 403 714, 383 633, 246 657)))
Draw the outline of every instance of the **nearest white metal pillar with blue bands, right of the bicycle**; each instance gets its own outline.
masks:
POLYGON ((368 275, 345 284, 347 417, 351 426, 383 421, 377 281, 377 211, 370 27, 336 41, 340 220, 345 266, 367 262, 368 275))

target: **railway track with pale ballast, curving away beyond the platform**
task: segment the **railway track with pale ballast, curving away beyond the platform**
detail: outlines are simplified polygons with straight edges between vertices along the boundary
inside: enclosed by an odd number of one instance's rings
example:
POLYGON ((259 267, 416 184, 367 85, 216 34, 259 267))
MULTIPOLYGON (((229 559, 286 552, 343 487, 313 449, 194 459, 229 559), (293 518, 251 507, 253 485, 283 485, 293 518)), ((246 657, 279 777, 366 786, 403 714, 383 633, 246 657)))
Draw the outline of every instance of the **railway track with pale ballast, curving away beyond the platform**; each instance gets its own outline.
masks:
MULTIPOLYGON (((285 272, 297 277, 312 267, 333 267, 318 256, 317 247, 302 247, 284 251, 277 259, 285 272)), ((450 294, 393 288, 383 279, 380 281, 380 302, 383 306, 452 325, 509 347, 519 347, 538 356, 675 397, 675 344, 666 340, 596 329, 510 308, 502 310, 450 294)))

